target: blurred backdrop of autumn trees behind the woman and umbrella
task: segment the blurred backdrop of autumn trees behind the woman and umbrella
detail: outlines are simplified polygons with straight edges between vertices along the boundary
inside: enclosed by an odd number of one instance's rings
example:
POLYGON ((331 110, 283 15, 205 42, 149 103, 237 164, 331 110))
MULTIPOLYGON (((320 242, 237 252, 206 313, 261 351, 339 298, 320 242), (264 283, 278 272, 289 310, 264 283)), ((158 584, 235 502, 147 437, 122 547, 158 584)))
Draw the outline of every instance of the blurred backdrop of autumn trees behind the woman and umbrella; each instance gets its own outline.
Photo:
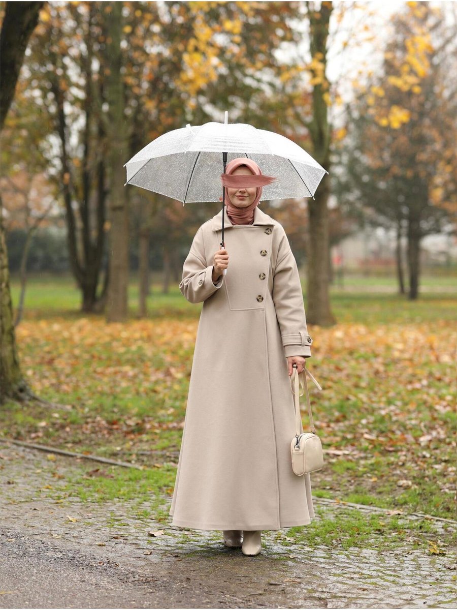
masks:
POLYGON ((226 109, 231 123, 282 133, 330 171, 315 199, 261 204, 306 268, 310 323, 335 322, 335 261, 366 274, 383 259, 350 254, 350 240, 370 240, 367 228, 394 235, 386 272, 410 299, 425 237, 455 243, 450 5, 403 2, 380 14, 331 2, 4 2, 0 16, 16 323, 27 270, 71 273, 80 310, 111 321, 127 318, 133 272, 147 315, 152 274, 168 293, 197 228, 220 208, 124 187, 123 165, 161 134, 222 121, 226 109), (7 29, 13 5, 24 10, 7 29))

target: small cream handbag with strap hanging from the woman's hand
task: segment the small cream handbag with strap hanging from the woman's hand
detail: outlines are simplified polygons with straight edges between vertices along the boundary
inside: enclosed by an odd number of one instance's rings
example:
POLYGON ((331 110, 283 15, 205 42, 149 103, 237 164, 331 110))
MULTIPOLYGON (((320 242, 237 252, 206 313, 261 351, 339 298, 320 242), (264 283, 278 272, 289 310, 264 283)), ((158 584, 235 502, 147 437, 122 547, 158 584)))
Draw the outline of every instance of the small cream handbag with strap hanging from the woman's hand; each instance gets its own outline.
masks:
POLYGON ((321 386, 317 383, 316 379, 314 379, 313 375, 311 375, 310 371, 305 368, 303 369, 303 373, 300 375, 303 376, 306 390, 306 401, 308 402, 308 415, 310 415, 310 423, 312 432, 302 432, 300 434, 300 423, 301 423, 301 415, 300 415, 300 401, 299 396, 303 396, 303 383, 302 385, 302 393, 299 394, 299 373, 297 373, 297 365, 294 363, 292 365, 293 372, 291 375, 291 385, 292 385, 292 393, 295 397, 295 430, 296 434, 291 442, 291 454, 292 454, 292 470, 298 476, 302 476, 305 473, 314 472, 314 470, 321 470, 324 465, 324 452, 322 451, 322 443, 321 439, 316 434, 316 429, 314 428, 313 423, 313 414, 311 413, 311 403, 310 403, 310 394, 308 392, 308 383, 306 382, 306 375, 308 375, 319 390, 322 390, 321 386), (295 388, 295 389, 294 389, 295 388))

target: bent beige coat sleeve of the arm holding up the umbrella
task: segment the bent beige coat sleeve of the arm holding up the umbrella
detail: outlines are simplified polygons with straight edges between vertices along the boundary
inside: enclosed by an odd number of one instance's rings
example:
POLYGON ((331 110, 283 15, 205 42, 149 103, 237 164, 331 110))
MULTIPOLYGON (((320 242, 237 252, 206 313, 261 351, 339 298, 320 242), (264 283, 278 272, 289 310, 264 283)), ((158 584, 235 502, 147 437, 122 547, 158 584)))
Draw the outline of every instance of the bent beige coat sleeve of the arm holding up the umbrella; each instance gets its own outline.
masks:
POLYGON ((213 284, 213 267, 214 265, 208 267, 206 264, 203 231, 200 227, 184 261, 182 281, 179 284, 180 291, 190 303, 205 301, 224 284, 224 275, 219 277, 217 284, 213 284))

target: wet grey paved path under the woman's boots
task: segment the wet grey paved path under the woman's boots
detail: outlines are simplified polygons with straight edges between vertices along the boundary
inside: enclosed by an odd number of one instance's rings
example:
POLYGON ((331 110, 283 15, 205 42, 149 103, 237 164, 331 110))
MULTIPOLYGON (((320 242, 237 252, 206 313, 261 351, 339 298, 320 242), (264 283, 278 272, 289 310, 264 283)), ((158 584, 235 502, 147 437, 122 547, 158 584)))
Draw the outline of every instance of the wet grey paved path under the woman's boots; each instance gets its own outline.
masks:
MULTIPOLYGON (((221 532, 145 525, 128 502, 62 503, 41 490, 74 459, 0 444, 2 608, 455 608, 455 554, 292 544, 263 533, 254 558, 221 532), (107 519, 108 515, 110 516, 107 519), (74 521, 71 521, 74 519, 74 521), (161 536, 148 531, 163 530, 161 536)), ((95 464, 95 462, 93 462, 95 464)), ((325 511, 338 510, 316 499, 325 511)), ((319 517, 318 517, 319 518, 319 517)))

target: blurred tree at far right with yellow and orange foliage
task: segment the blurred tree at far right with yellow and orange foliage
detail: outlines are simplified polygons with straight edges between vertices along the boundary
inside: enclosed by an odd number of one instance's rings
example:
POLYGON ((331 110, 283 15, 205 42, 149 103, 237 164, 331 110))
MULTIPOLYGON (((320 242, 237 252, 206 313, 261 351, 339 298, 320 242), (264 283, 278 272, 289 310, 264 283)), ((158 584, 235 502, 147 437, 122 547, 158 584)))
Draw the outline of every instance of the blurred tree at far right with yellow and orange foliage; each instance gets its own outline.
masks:
POLYGON ((395 228, 399 290, 419 295, 420 243, 455 233, 457 211, 455 28, 427 2, 392 20, 381 70, 347 107, 347 193, 371 224, 395 228), (453 59, 452 59, 453 58, 453 59), (401 242, 406 237, 407 258, 401 242))

